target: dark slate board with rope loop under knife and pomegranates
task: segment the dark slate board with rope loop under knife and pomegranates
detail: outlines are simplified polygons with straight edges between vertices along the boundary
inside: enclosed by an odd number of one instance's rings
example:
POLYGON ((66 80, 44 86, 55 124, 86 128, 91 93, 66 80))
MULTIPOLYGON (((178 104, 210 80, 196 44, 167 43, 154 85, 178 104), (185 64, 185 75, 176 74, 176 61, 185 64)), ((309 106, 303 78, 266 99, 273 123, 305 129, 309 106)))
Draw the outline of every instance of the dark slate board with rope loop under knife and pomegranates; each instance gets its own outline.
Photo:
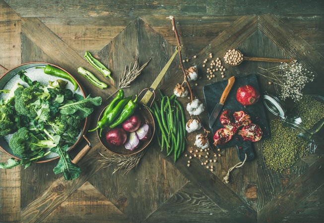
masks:
MULTIPOLYGON (((215 105, 219 102, 220 97, 227 85, 227 82, 228 82, 227 80, 224 80, 212 84, 207 84, 203 87, 203 95, 205 98, 206 107, 209 116, 213 111, 215 105)), ((222 111, 230 110, 231 115, 233 114, 234 111, 246 111, 248 114, 250 114, 252 122, 258 124, 261 127, 263 131, 262 139, 269 138, 270 137, 269 124, 265 115, 265 110, 262 101, 259 100, 256 104, 252 106, 244 107, 236 100, 235 95, 237 89, 247 84, 255 87, 261 93, 258 79, 255 74, 250 74, 242 77, 235 77, 234 85, 232 87, 231 92, 228 95, 228 98, 225 102, 222 111)), ((215 121, 214 125, 212 126, 211 129, 212 133, 214 133, 217 129, 224 127, 219 121, 219 116, 215 121)), ((240 161, 244 161, 245 153, 248 155, 247 161, 253 160, 255 158, 252 142, 243 141, 242 136, 240 136, 237 133, 233 136, 232 140, 226 143, 225 145, 217 145, 217 146, 221 149, 236 146, 240 161)))

